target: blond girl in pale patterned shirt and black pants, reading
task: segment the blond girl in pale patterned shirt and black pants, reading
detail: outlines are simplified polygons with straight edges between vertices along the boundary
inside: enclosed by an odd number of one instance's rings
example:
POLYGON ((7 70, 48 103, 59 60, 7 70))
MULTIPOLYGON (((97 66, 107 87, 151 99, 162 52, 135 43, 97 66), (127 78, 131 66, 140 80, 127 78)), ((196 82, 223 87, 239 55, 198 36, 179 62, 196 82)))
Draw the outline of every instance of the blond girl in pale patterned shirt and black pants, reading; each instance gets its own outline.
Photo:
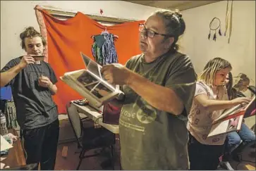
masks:
POLYGON ((231 69, 228 61, 213 58, 198 77, 193 106, 188 115, 190 170, 217 170, 226 134, 207 137, 212 123, 224 109, 250 102, 246 97, 228 100, 225 80, 231 69))

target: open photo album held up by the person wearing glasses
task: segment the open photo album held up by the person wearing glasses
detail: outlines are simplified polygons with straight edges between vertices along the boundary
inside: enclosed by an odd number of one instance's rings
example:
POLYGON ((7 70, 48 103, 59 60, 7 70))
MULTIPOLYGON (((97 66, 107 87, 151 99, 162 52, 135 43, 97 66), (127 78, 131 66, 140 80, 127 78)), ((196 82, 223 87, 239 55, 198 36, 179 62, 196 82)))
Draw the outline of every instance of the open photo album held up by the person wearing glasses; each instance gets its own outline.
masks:
POLYGON ((106 82, 100 72, 102 66, 92 61, 89 57, 80 52, 85 63, 85 69, 66 72, 61 80, 72 89, 85 97, 89 105, 99 108, 106 101, 114 99, 123 92, 118 85, 106 82))

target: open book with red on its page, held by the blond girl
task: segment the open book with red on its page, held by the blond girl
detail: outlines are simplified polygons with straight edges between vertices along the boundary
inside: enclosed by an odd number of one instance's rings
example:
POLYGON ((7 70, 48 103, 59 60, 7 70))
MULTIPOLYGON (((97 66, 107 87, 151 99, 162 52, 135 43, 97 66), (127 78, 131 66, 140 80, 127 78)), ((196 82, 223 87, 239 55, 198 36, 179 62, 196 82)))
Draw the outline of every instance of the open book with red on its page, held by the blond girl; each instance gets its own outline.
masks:
POLYGON ((224 110, 224 113, 214 120, 208 137, 239 131, 243 123, 243 118, 248 118, 252 115, 255 115, 255 96, 245 106, 240 104, 224 110))

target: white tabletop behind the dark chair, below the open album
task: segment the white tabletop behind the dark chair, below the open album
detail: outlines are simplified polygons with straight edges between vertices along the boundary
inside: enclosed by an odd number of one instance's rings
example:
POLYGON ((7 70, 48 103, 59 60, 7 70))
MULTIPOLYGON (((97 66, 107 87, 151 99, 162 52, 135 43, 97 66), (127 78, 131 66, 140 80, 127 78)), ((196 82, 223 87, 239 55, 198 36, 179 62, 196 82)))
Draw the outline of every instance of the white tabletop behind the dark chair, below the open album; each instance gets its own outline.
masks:
POLYGON ((97 123, 102 127, 105 127, 114 134, 119 134, 119 126, 103 123, 102 113, 99 113, 99 111, 97 111, 95 108, 92 108, 91 106, 80 106, 78 104, 73 103, 73 101, 71 101, 71 105, 74 105, 77 108, 78 113, 84 113, 90 119, 94 121, 97 120, 97 123))

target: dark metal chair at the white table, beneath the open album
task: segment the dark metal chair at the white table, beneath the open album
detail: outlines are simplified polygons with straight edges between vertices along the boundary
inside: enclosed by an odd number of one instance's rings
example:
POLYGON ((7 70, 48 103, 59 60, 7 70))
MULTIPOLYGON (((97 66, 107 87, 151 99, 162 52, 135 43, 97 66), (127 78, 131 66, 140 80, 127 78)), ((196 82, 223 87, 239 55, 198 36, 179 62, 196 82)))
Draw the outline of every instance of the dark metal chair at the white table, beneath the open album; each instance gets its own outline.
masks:
POLYGON ((71 103, 66 105, 66 110, 68 113, 68 120, 71 122, 71 127, 78 141, 78 148, 82 148, 80 151, 80 161, 76 170, 79 167, 84 158, 89 158, 93 156, 98 156, 101 153, 95 153, 92 155, 85 156, 87 151, 95 148, 110 148, 111 165, 114 170, 114 144, 115 144, 115 134, 105 129, 104 127, 95 128, 94 122, 83 125, 80 119, 78 110, 71 103))

